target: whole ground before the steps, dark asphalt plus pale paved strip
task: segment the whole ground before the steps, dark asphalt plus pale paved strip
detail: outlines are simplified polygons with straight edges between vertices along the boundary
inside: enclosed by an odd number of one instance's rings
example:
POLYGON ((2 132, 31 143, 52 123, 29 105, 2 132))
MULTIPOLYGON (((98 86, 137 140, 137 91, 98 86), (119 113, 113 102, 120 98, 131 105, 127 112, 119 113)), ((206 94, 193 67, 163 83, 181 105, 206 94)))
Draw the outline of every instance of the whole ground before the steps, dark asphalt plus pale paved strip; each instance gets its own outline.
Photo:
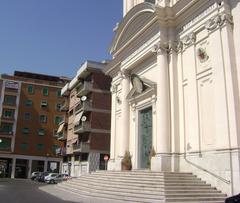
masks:
POLYGON ((56 185, 28 179, 0 179, 1 203, 122 203, 106 199, 86 198, 61 190, 56 185))

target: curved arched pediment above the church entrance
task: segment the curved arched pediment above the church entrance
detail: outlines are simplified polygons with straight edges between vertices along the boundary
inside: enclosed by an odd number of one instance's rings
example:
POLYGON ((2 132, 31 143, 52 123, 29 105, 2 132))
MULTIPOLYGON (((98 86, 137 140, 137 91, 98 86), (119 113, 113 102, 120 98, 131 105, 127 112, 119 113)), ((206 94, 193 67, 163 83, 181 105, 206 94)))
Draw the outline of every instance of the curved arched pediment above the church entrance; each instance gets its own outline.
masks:
POLYGON ((150 3, 141 3, 133 7, 118 25, 110 53, 113 54, 132 39, 153 18, 154 13, 155 6, 150 3))

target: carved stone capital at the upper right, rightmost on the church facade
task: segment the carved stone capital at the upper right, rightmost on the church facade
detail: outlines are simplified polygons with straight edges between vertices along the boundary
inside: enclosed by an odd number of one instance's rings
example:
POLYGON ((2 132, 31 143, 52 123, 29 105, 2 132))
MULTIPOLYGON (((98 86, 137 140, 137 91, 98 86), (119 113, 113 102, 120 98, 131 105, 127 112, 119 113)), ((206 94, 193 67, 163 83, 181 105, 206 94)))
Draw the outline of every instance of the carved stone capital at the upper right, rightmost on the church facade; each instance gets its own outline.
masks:
POLYGON ((215 30, 217 28, 220 28, 225 23, 229 23, 229 24, 232 25, 233 24, 232 16, 229 15, 229 14, 226 14, 226 13, 221 13, 221 14, 218 14, 218 15, 214 16, 210 20, 208 20, 205 23, 205 28, 208 31, 212 31, 212 30, 215 30))

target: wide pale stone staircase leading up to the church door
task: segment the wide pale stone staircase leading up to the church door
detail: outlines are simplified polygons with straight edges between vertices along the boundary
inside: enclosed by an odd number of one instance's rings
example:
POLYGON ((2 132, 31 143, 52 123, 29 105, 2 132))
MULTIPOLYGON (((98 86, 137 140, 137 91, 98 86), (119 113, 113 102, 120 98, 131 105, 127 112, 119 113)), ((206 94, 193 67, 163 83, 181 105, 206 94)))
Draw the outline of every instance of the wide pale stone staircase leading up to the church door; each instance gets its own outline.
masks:
POLYGON ((97 171, 59 183, 57 187, 111 202, 224 203, 226 198, 192 173, 97 171))

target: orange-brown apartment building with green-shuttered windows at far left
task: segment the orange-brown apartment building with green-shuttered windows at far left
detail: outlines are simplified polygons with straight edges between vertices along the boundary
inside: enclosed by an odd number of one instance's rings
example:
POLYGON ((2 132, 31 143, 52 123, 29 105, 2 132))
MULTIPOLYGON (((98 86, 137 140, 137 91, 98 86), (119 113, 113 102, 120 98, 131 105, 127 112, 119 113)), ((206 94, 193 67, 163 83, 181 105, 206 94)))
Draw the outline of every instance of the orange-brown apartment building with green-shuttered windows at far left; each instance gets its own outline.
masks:
POLYGON ((62 143, 56 132, 64 115, 61 88, 68 80, 15 71, 0 81, 0 176, 59 171, 62 157, 56 149, 62 143))

